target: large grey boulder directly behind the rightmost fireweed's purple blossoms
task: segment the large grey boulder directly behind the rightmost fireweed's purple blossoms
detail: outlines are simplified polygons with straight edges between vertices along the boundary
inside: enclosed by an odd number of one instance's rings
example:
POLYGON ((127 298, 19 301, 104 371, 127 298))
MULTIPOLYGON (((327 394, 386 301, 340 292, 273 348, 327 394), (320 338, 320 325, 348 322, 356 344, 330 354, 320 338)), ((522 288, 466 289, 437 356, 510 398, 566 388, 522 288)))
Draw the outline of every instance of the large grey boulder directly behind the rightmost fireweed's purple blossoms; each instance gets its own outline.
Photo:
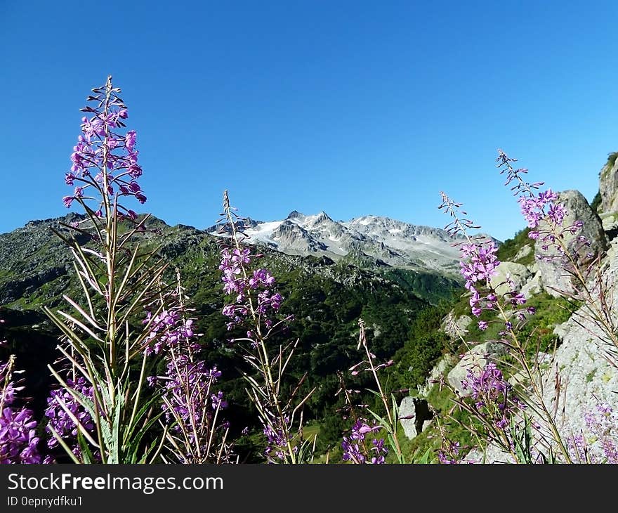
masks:
MULTIPOLYGON (((586 252, 597 254, 607 249, 607 237, 603 231, 603 223, 596 212, 591 209, 588 201, 579 190, 565 190, 558 194, 558 203, 562 204, 567 210, 567 215, 563 221, 563 227, 572 226, 575 221, 584 223, 583 228, 576 234, 565 233, 564 242, 567 248, 572 252, 577 249, 581 243, 578 240, 580 235, 583 235, 590 242, 590 247, 586 248, 586 252)), ((539 230, 546 230, 546 223, 539 225, 539 230)), ((570 275, 565 271, 564 263, 560 258, 556 258, 558 254, 554 247, 544 249, 546 244, 540 239, 534 245, 534 252, 547 257, 547 259, 539 259, 538 269, 541 283, 544 290, 553 297, 560 296, 560 292, 570 292, 572 290, 570 275)))

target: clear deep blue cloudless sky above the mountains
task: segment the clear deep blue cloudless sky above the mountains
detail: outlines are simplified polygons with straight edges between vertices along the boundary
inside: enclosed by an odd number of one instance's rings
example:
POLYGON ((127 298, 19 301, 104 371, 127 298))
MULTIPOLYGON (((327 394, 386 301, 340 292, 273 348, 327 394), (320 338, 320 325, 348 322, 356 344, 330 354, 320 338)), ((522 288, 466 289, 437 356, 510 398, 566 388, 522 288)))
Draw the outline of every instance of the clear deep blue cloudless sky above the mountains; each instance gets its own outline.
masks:
MULTIPOLYGON (((618 150, 618 3, 0 0, 0 233, 65 214, 79 108, 107 74, 152 212, 199 228, 221 193, 497 238, 525 226, 497 148, 589 200, 618 150)), ((145 210, 144 210, 145 209, 145 210)))

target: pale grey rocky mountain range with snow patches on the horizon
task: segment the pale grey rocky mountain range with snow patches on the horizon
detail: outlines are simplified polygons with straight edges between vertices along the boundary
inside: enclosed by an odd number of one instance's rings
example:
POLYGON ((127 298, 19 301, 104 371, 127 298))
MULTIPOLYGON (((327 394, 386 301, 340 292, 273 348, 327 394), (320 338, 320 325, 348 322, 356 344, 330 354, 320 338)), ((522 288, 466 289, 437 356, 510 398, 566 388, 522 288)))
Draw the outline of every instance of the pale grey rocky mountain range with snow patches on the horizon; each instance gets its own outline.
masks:
POLYGON ((362 216, 334 221, 326 212, 294 210, 282 221, 246 223, 247 242, 294 255, 360 259, 400 268, 459 275, 459 249, 440 228, 417 226, 388 217, 362 216))

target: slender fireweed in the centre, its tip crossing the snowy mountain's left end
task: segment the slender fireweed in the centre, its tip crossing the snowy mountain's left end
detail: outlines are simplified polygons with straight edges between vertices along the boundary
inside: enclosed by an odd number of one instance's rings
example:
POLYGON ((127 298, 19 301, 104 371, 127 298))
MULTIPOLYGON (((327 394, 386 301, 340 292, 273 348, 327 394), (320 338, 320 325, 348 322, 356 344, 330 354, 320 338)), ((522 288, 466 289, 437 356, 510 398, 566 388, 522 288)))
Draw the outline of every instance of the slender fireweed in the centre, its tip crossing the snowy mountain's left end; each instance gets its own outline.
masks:
POLYGON ((229 319, 230 332, 242 332, 231 337, 230 343, 242 351, 249 365, 243 377, 266 438, 263 455, 270 463, 313 462, 316 439, 303 438, 303 405, 315 389, 298 398, 306 374, 294 387, 287 385, 285 371, 298 339, 277 343, 277 335, 293 318, 279 315, 283 298, 275 291, 275 278, 268 269, 256 265, 262 255, 242 244, 246 220, 230 207, 228 191, 223 193, 219 223, 225 235, 219 269, 223 292, 232 298, 223 315, 229 319))

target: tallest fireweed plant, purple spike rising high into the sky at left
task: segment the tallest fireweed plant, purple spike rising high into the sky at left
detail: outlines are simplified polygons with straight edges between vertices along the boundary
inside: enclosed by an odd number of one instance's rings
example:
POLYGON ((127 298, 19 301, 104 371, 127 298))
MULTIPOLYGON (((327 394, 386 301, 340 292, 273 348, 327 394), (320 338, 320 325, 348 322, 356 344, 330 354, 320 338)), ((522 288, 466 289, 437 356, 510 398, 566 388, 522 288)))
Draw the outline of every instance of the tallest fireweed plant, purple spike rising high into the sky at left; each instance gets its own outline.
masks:
POLYGON ((56 234, 73 256, 82 298, 64 296, 68 309, 45 311, 63 334, 59 365, 50 365, 60 388, 48 400, 49 448, 61 446, 74 462, 155 461, 161 442, 150 436, 162 411, 146 387, 146 370, 160 311, 140 324, 158 294, 166 264, 145 250, 138 219, 127 200, 146 201, 138 179, 136 131, 112 77, 92 90, 82 109, 81 134, 65 182, 66 207, 79 204, 84 219, 56 234), (154 413, 153 413, 154 412, 154 413))

